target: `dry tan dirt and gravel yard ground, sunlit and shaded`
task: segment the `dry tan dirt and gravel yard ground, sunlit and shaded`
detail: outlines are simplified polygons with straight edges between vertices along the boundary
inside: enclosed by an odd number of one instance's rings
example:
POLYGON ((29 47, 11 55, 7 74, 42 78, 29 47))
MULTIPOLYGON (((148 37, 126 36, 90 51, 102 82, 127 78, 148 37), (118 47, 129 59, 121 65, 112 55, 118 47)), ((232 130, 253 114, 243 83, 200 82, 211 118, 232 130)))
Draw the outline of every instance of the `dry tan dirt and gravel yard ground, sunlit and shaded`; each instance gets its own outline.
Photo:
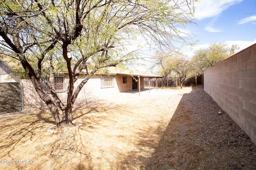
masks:
POLYGON ((56 134, 48 131, 54 121, 46 108, 0 115, 0 169, 256 169, 256 145, 201 86, 78 106, 73 118, 83 124, 56 134))

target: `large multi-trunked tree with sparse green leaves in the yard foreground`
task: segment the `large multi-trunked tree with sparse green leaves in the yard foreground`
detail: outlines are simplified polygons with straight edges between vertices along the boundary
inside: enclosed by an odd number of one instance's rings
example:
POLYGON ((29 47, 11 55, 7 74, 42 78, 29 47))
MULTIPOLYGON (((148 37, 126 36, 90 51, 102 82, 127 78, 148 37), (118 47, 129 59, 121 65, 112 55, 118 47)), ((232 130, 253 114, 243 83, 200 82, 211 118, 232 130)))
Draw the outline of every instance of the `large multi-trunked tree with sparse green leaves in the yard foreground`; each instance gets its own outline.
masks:
POLYGON ((70 126, 84 84, 101 68, 137 59, 137 49, 129 47, 137 37, 169 50, 176 49, 174 41, 187 43, 178 28, 193 22, 193 1, 4 0, 1 53, 22 65, 57 127, 70 126), (68 72, 66 101, 54 88, 60 70, 68 72), (75 86, 82 72, 86 76, 75 86), (42 86, 46 77, 50 94, 42 86))

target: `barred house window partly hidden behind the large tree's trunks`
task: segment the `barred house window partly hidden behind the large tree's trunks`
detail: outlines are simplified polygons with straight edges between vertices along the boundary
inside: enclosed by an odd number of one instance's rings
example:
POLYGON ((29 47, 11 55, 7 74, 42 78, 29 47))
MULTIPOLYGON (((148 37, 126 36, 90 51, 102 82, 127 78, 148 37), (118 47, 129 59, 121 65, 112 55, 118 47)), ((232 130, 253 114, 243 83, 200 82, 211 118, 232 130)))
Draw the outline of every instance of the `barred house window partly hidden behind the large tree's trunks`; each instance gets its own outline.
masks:
MULTIPOLYGON (((46 84, 46 82, 49 82, 49 78, 45 78, 45 80, 42 81, 42 85, 45 92, 50 92, 50 88, 46 84)), ((54 76, 54 88, 56 92, 62 92, 64 91, 64 76, 54 76)))

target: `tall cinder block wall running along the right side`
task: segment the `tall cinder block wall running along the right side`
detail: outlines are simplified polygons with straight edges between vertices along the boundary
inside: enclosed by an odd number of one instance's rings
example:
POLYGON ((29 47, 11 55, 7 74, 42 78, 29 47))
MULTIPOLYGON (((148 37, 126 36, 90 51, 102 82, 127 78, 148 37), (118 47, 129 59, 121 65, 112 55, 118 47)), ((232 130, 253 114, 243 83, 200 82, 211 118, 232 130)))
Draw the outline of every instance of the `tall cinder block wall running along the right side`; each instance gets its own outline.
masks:
POLYGON ((204 90, 256 145, 256 44, 204 71, 204 90))

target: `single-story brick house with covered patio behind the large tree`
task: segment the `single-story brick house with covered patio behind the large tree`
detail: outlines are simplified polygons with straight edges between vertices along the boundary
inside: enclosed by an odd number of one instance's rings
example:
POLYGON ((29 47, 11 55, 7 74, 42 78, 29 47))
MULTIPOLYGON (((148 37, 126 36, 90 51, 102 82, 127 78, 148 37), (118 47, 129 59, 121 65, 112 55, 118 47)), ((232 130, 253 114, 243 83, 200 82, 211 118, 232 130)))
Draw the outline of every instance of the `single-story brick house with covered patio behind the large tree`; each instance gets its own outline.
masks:
MULTIPOLYGON (((83 101, 92 96, 101 96, 103 94, 111 95, 113 93, 127 92, 130 90, 139 90, 140 92, 140 89, 144 88, 144 78, 162 78, 162 76, 145 71, 132 71, 128 69, 121 70, 116 67, 110 67, 108 70, 108 74, 104 72, 97 72, 92 76, 83 86, 76 101, 83 101)), ((8 76, 8 74, 6 74, 6 76, 8 76)), ((80 74, 74 86, 78 86, 85 76, 86 74, 80 74)), ((44 102, 34 90, 34 86, 29 78, 15 79, 16 80, 13 80, 21 82, 23 85, 24 108, 45 106, 44 102)), ((67 95, 66 90, 68 88, 68 80, 67 72, 60 72, 60 75, 54 77, 54 86, 58 92, 58 96, 63 99, 62 101, 66 101, 65 98, 67 95)), ((43 86, 46 92, 50 92, 46 84, 43 84, 43 86)))

